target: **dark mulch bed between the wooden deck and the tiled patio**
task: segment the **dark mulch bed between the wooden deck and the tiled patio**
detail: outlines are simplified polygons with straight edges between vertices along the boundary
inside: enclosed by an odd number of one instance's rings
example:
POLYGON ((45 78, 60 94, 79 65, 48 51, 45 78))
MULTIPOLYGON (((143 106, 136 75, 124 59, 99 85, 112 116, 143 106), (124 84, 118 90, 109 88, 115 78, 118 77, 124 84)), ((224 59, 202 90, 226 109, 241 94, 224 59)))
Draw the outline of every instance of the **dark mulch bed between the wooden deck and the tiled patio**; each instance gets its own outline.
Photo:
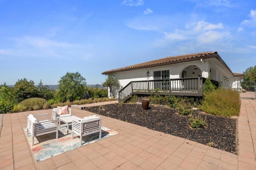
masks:
POLYGON ((166 106, 150 106, 150 109, 144 111, 141 104, 110 104, 86 110, 205 145, 214 143, 214 148, 236 152, 236 119, 194 110, 192 115, 206 119, 208 126, 192 129, 189 125, 191 116, 181 116, 176 109, 166 106))

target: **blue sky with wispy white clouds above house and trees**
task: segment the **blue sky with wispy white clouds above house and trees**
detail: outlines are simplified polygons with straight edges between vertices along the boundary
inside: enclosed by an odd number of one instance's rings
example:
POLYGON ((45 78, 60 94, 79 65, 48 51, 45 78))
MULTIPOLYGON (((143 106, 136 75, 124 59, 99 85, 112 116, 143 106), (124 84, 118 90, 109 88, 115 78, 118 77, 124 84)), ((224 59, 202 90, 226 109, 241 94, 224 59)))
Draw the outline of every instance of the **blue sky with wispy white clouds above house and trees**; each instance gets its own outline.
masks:
POLYGON ((79 72, 217 51, 233 72, 256 64, 255 0, 0 0, 0 84, 58 84, 79 72))

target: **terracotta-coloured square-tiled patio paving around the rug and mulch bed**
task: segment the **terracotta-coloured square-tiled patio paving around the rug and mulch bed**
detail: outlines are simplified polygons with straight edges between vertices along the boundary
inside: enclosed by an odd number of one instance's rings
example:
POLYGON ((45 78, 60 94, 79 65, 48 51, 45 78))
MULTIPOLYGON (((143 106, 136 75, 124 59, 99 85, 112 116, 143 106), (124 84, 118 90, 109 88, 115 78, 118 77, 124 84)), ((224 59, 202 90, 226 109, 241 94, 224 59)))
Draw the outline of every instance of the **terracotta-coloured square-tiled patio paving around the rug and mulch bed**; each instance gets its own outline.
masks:
MULTIPOLYGON (((78 117, 94 114, 78 109, 72 112, 78 117)), ((22 128, 26 127, 26 116, 41 113, 51 113, 51 110, 4 114, 0 134, 1 170, 256 169, 255 100, 242 100, 238 155, 100 115, 102 125, 118 131, 118 135, 36 163, 22 128)))

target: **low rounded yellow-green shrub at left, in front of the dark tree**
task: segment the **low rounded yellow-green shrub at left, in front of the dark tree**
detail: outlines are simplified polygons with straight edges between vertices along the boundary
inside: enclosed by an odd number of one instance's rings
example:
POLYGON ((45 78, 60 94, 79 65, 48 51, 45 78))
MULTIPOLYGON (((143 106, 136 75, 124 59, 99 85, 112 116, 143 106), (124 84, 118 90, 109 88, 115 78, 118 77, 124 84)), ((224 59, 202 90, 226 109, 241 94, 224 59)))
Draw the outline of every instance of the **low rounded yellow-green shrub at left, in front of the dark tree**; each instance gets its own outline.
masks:
MULTIPOLYGON (((42 109, 44 104, 47 102, 47 100, 43 99, 43 98, 29 98, 29 99, 25 99, 22 102, 20 102, 20 105, 26 106, 27 110, 34 110, 33 107, 34 106, 38 106, 38 109, 42 109)), ((34 107, 36 108, 36 107, 34 107)))

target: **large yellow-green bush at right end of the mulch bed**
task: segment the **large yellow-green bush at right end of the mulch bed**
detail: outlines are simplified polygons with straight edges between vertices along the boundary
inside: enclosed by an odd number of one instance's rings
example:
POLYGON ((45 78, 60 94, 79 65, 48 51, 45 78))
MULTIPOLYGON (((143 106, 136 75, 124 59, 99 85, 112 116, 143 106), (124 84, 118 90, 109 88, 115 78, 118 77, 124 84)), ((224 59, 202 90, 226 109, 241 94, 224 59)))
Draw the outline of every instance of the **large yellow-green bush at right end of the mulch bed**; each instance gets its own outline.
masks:
POLYGON ((213 115, 230 117, 239 115, 240 106, 241 101, 237 91, 219 88, 204 96, 200 108, 213 115))

